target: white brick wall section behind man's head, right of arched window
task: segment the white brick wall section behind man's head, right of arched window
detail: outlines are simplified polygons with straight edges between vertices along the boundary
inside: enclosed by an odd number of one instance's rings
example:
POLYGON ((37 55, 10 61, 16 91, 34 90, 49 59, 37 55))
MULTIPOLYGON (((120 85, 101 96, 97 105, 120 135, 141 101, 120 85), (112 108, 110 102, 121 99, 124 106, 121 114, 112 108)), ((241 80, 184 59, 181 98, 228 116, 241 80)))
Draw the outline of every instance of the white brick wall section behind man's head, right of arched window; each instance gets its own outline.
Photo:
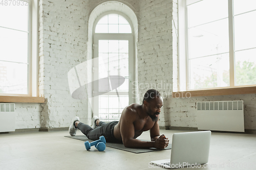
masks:
MULTIPOLYGON (((146 90, 157 84, 168 84, 156 88, 161 93, 172 91, 172 1, 140 1, 138 42, 138 83, 141 85, 140 104, 146 90), (151 86, 152 85, 152 86, 151 86)), ((165 104, 160 114, 160 126, 165 126, 165 104)))

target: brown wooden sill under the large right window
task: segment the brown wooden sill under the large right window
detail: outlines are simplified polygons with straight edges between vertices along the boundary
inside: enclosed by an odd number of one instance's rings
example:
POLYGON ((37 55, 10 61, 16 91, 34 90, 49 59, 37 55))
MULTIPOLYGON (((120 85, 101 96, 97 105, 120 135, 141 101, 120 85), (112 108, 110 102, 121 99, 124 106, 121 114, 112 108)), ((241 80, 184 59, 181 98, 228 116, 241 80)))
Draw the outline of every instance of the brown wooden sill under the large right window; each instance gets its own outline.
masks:
POLYGON ((256 93, 256 86, 173 92, 173 98, 256 93))

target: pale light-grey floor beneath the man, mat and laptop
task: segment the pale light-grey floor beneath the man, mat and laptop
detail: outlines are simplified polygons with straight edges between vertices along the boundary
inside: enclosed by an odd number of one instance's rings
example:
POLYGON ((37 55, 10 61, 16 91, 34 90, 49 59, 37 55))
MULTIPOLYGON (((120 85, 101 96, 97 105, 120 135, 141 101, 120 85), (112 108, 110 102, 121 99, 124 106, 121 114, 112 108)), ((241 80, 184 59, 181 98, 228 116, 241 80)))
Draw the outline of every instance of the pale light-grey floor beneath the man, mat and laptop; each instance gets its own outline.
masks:
MULTIPOLYGON (((185 132, 160 131, 170 143, 173 133, 185 132)), ((87 151, 83 141, 65 135, 69 132, 0 134, 0 169, 160 169, 150 161, 168 159, 171 152, 134 154, 108 147, 104 152, 94 148, 87 151)), ((148 132, 139 138, 150 140, 148 132)), ((256 135, 212 133, 207 166, 191 169, 256 169, 256 135)))

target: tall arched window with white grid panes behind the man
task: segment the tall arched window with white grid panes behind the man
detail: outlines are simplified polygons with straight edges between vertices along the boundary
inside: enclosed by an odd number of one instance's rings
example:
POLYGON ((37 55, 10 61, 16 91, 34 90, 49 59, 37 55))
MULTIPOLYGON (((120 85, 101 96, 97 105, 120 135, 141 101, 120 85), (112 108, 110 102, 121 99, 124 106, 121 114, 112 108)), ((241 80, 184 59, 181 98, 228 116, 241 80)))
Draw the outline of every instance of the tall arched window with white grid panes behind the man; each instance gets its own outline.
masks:
POLYGON ((122 110, 134 103, 134 36, 131 25, 130 19, 120 12, 103 13, 94 22, 93 58, 97 58, 97 63, 93 64, 93 81, 98 84, 93 85, 93 91, 100 91, 102 85, 96 80, 121 76, 115 81, 120 83, 117 83, 117 88, 110 82, 108 89, 101 89, 103 94, 93 98, 94 115, 99 115, 105 122, 119 120, 122 110))

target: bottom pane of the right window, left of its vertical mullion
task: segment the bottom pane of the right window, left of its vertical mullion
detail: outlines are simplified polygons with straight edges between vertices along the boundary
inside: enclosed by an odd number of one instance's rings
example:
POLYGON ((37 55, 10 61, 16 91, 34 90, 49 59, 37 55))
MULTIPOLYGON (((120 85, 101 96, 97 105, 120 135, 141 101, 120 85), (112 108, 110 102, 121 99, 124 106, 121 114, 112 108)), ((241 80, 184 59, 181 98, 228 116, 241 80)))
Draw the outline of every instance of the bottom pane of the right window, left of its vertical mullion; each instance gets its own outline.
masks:
POLYGON ((190 89, 229 86, 228 54, 190 60, 190 89))

